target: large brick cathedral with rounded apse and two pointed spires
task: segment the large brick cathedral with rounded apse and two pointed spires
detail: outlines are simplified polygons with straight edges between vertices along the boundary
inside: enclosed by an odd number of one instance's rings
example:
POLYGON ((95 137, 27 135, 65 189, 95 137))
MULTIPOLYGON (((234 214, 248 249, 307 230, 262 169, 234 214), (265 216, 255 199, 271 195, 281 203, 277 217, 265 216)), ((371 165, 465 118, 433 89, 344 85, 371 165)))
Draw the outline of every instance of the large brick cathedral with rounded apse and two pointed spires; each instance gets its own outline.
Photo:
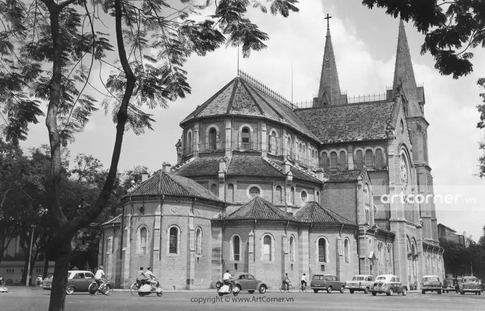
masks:
POLYGON ((294 283, 390 273, 418 288, 423 275, 444 277, 404 23, 383 95, 342 93, 328 26, 325 40, 308 107, 239 71, 180 122, 178 163, 143 174, 102 225, 99 263, 116 287, 139 267, 170 289, 214 288, 225 270, 270 288, 284 273, 294 283))

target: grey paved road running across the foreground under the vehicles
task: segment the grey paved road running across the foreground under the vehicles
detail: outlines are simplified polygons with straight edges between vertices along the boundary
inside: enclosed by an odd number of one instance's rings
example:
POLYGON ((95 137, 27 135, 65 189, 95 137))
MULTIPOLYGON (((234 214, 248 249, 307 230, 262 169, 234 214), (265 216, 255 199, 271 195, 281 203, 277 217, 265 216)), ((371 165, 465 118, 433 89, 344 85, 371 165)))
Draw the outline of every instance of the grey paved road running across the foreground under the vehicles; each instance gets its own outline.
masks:
MULTIPOLYGON (((0 310, 2 311, 46 311, 49 306, 49 291, 11 287, 8 294, 0 293, 0 310)), ((164 292, 162 297, 132 296, 130 292, 115 291, 109 297, 104 295, 90 296, 85 293, 74 293, 66 298, 66 310, 477 310, 485 309, 484 295, 475 296, 456 293, 438 295, 429 293, 408 293, 407 296, 372 295, 364 293, 303 293, 281 294, 240 293, 237 297, 223 296, 216 292, 164 292), (293 300, 287 301, 290 298, 293 300), (205 299, 205 301, 204 301, 205 299), (239 301, 236 301, 238 299, 239 301), (244 300, 243 300, 244 299, 244 300), (275 300, 271 302, 271 299, 275 300), (200 300, 200 303, 196 302, 200 300)))

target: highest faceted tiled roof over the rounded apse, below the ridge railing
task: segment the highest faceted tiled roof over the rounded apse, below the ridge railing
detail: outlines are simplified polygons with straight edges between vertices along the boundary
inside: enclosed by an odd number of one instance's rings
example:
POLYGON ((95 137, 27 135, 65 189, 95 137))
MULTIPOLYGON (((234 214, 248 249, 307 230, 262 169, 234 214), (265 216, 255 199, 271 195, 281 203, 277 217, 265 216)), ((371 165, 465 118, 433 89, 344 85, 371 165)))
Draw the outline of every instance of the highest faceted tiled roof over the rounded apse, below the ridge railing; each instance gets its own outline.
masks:
POLYGON ((241 77, 235 77, 181 123, 193 118, 220 115, 267 118, 291 126, 317 140, 292 109, 241 77))

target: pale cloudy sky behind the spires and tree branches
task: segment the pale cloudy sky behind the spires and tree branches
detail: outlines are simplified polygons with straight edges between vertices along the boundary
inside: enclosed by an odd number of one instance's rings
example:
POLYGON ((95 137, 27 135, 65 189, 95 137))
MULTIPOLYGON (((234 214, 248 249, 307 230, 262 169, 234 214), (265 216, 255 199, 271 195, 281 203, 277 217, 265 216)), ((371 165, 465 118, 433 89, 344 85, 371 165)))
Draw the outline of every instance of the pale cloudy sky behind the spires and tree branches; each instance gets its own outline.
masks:
MULTIPOLYGON (((335 51, 341 89, 350 96, 384 93, 392 86, 399 21, 381 9, 369 10, 360 0, 304 0, 300 12, 288 18, 265 15, 251 10, 248 17, 269 35, 268 48, 253 52, 249 59, 239 57, 239 68, 294 101, 311 100, 317 92, 326 33, 326 14, 330 14, 330 32, 335 51), (292 92, 293 67, 293 92, 292 92)), ((209 15, 210 12, 207 12, 209 15)), ((436 204, 438 222, 458 234, 466 231, 475 241, 485 225, 485 181, 478 173, 481 155, 478 141, 483 131, 476 128, 482 90, 476 81, 485 71, 485 50, 475 49, 474 72, 459 80, 441 76, 427 54, 420 55, 424 36, 406 24, 408 44, 417 83, 424 84, 425 118, 429 122, 428 153, 435 194, 450 201, 436 204)), ((176 163, 175 143, 180 138, 179 122, 210 98, 237 74, 237 49, 220 48, 206 57, 190 57, 185 65, 191 94, 170 103, 169 109, 147 110, 157 121, 154 131, 124 136, 119 170, 136 165, 151 171, 163 162, 176 163)), ((93 85, 100 85, 110 73, 108 67, 94 66, 93 85)), ((106 81, 106 79, 105 79, 106 81)), ((102 87, 101 87, 102 89, 102 87)), ((101 101, 94 90, 88 93, 101 101)), ((115 124, 102 109, 93 115, 84 132, 69 146, 72 157, 92 154, 109 167, 115 137, 115 124)), ((43 122, 30 127, 24 148, 48 143, 43 122)))

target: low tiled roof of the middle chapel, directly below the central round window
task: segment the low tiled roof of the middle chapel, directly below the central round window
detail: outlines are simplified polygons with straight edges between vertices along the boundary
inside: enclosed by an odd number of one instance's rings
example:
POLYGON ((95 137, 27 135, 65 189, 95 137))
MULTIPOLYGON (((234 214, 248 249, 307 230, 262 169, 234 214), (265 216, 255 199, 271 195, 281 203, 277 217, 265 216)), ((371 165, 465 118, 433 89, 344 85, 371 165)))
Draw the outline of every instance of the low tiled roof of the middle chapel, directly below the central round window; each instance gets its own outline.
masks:
POLYGON ((243 204, 236 211, 222 217, 222 219, 264 219, 297 221, 295 217, 281 211, 276 206, 261 198, 260 196, 255 196, 251 201, 243 204))

